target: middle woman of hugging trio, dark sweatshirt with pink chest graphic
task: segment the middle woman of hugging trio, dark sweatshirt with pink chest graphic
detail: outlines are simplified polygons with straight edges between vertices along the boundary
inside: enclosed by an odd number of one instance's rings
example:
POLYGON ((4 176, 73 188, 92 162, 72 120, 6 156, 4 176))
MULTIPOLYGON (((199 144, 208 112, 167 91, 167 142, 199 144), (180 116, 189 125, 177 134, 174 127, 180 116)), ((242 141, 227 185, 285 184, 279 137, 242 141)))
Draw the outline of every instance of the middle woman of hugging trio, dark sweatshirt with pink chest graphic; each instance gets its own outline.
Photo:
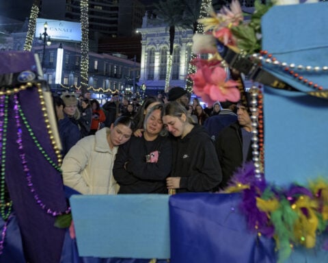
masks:
POLYGON ((172 167, 172 143, 161 119, 162 104, 146 115, 143 136, 133 136, 118 149, 113 176, 119 194, 167 194, 165 179, 172 167))

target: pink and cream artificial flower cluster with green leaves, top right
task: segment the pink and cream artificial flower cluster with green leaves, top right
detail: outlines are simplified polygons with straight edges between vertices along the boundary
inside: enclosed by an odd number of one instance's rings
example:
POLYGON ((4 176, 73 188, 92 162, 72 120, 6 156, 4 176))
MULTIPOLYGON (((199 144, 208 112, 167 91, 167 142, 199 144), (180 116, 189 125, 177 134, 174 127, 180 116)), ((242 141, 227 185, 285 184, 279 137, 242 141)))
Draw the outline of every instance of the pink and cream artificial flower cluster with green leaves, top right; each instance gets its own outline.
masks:
MULTIPOLYGON (((317 2, 308 0, 305 3, 317 2)), ((217 52, 217 41, 236 53, 252 55, 261 50, 261 18, 273 5, 295 4, 298 0, 275 0, 266 4, 256 0, 255 11, 245 19, 238 0, 232 0, 230 8, 224 6, 218 13, 208 10, 209 17, 201 18, 205 34, 193 36, 193 53, 210 54, 208 60, 195 58, 191 63, 197 71, 189 77, 193 80, 193 92, 209 105, 215 101, 238 101, 241 99, 241 77, 239 82, 228 80, 228 69, 217 52)))

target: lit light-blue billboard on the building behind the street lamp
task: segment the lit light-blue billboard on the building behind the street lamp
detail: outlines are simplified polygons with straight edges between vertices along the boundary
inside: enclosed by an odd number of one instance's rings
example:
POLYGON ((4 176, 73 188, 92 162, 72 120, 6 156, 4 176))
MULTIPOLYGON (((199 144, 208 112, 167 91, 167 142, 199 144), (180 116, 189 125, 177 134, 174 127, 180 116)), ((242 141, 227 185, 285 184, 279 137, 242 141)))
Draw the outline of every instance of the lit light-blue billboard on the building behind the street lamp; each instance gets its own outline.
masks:
POLYGON ((44 23, 48 24, 46 33, 51 40, 81 41, 81 23, 37 18, 36 38, 44 32, 44 23))

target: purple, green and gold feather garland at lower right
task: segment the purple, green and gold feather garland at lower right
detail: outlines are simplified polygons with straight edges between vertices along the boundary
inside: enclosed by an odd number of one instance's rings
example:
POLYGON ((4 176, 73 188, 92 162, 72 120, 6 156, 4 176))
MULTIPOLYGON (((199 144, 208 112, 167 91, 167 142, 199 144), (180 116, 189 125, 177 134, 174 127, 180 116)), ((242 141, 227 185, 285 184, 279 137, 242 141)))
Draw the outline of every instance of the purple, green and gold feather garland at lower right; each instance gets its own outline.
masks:
POLYGON ((279 262, 284 262, 294 247, 328 250, 328 182, 311 181, 308 188, 292 184, 288 188, 269 185, 257 179, 253 164, 238 171, 224 192, 242 192, 240 209, 249 228, 258 236, 275 238, 279 262), (324 235, 322 235, 324 237, 324 235))

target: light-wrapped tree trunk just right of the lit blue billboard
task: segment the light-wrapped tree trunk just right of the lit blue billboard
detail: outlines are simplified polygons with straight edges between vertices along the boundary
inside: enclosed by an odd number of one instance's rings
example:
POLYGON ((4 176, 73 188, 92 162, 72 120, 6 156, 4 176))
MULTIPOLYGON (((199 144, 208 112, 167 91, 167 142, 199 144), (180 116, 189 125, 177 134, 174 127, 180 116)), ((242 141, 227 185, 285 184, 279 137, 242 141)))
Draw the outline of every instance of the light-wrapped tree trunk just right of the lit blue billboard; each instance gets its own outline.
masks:
POLYGON ((81 90, 82 94, 87 91, 88 69, 89 69, 89 3, 87 0, 81 0, 81 90))

